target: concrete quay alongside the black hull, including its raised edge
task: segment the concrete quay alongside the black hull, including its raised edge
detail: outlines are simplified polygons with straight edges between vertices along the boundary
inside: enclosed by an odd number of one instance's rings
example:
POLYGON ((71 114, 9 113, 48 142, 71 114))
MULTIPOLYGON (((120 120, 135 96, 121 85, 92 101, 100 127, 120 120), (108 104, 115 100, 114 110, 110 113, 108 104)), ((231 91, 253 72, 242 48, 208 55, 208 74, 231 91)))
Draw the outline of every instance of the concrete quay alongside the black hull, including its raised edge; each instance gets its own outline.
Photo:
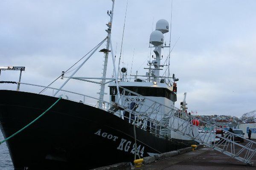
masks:
POLYGON ((247 166, 201 144, 195 151, 186 147, 143 159, 143 165, 139 168, 133 167, 129 162, 123 162, 93 170, 256 170, 256 155, 251 159, 254 164, 247 166))

